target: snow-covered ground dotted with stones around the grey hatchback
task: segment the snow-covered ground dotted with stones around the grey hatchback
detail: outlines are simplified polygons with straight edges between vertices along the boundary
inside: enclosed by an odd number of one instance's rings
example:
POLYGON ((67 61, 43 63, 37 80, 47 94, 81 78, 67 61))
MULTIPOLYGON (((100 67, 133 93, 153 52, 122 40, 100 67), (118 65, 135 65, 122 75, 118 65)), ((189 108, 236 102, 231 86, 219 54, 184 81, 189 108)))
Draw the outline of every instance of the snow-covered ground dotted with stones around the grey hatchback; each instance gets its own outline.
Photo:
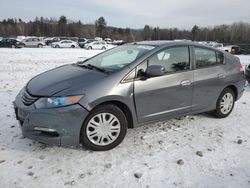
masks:
POLYGON ((250 187, 249 85, 228 118, 199 114, 132 129, 106 152, 23 138, 12 108, 18 91, 38 73, 99 52, 0 49, 0 188, 250 187))

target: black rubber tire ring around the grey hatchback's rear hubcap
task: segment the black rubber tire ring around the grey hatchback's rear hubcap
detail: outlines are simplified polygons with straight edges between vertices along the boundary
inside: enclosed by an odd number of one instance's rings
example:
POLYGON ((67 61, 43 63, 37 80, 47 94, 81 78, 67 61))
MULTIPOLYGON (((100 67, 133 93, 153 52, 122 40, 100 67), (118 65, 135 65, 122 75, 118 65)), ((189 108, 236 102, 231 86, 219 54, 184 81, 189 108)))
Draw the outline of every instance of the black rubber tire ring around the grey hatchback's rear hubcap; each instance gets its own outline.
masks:
POLYGON ((227 117, 227 116, 233 111, 234 103, 235 103, 235 93, 234 93, 234 91, 233 91, 232 89, 230 89, 230 88, 225 88, 225 89, 221 92, 221 94, 220 94, 220 96, 219 96, 219 98, 218 98, 218 100, 217 100, 217 103, 216 103, 216 110, 215 110, 215 116, 218 117, 218 118, 227 117), (233 106, 232 106, 231 110, 230 110, 227 114, 223 114, 223 113, 221 112, 220 103, 221 103, 221 100, 222 100, 223 96, 224 96, 226 93, 232 94, 233 100, 234 100, 234 101, 233 101, 233 106))

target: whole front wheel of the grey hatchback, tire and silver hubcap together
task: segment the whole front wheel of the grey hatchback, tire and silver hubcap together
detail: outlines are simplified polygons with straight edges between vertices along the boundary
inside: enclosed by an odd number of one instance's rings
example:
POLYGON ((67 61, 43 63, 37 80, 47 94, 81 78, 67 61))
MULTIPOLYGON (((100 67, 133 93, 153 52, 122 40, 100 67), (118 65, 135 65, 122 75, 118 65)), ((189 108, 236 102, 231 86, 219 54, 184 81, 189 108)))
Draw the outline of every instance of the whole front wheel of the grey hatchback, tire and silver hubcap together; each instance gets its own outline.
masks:
POLYGON ((80 140, 88 149, 94 151, 110 150, 123 141, 127 127, 126 116, 120 108, 112 104, 102 105, 91 111, 86 118, 81 129, 80 140), (99 124, 102 122, 106 125, 99 124), (107 125, 112 127, 112 130, 107 125))

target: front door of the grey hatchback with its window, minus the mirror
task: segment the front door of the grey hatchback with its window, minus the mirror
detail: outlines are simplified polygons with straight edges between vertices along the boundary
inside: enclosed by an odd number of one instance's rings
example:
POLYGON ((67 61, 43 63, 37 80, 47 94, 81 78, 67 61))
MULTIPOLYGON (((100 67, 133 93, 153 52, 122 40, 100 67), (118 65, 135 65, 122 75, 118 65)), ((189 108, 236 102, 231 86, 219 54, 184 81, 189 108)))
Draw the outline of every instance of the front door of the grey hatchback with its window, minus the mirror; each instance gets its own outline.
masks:
POLYGON ((167 48, 137 67, 137 74, 150 65, 165 67, 165 74, 134 81, 138 122, 159 120, 191 111, 193 71, 188 46, 167 48))

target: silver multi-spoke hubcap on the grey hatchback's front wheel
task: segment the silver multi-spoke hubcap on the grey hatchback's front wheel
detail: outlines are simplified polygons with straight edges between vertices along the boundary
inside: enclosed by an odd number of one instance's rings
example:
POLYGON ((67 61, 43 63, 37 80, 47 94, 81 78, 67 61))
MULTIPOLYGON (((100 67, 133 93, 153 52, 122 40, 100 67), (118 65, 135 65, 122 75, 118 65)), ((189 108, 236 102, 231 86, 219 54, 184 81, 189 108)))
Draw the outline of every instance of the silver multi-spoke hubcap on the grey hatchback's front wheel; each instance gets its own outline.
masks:
POLYGON ((92 117, 86 128, 88 139, 96 145, 106 146, 113 143, 119 136, 121 125, 116 116, 100 113, 92 117))

